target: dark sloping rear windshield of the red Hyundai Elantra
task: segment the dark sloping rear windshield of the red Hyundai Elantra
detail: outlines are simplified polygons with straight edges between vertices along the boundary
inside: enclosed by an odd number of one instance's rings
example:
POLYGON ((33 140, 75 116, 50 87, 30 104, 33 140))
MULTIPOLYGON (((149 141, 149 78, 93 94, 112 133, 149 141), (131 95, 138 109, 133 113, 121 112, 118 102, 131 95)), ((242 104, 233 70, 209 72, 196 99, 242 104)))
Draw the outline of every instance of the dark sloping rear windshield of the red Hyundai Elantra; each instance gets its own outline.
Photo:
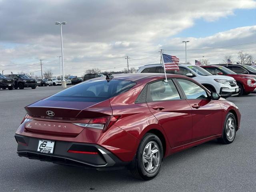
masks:
POLYGON ((101 102, 132 88, 136 83, 128 80, 112 79, 88 80, 63 90, 47 100, 101 102))

